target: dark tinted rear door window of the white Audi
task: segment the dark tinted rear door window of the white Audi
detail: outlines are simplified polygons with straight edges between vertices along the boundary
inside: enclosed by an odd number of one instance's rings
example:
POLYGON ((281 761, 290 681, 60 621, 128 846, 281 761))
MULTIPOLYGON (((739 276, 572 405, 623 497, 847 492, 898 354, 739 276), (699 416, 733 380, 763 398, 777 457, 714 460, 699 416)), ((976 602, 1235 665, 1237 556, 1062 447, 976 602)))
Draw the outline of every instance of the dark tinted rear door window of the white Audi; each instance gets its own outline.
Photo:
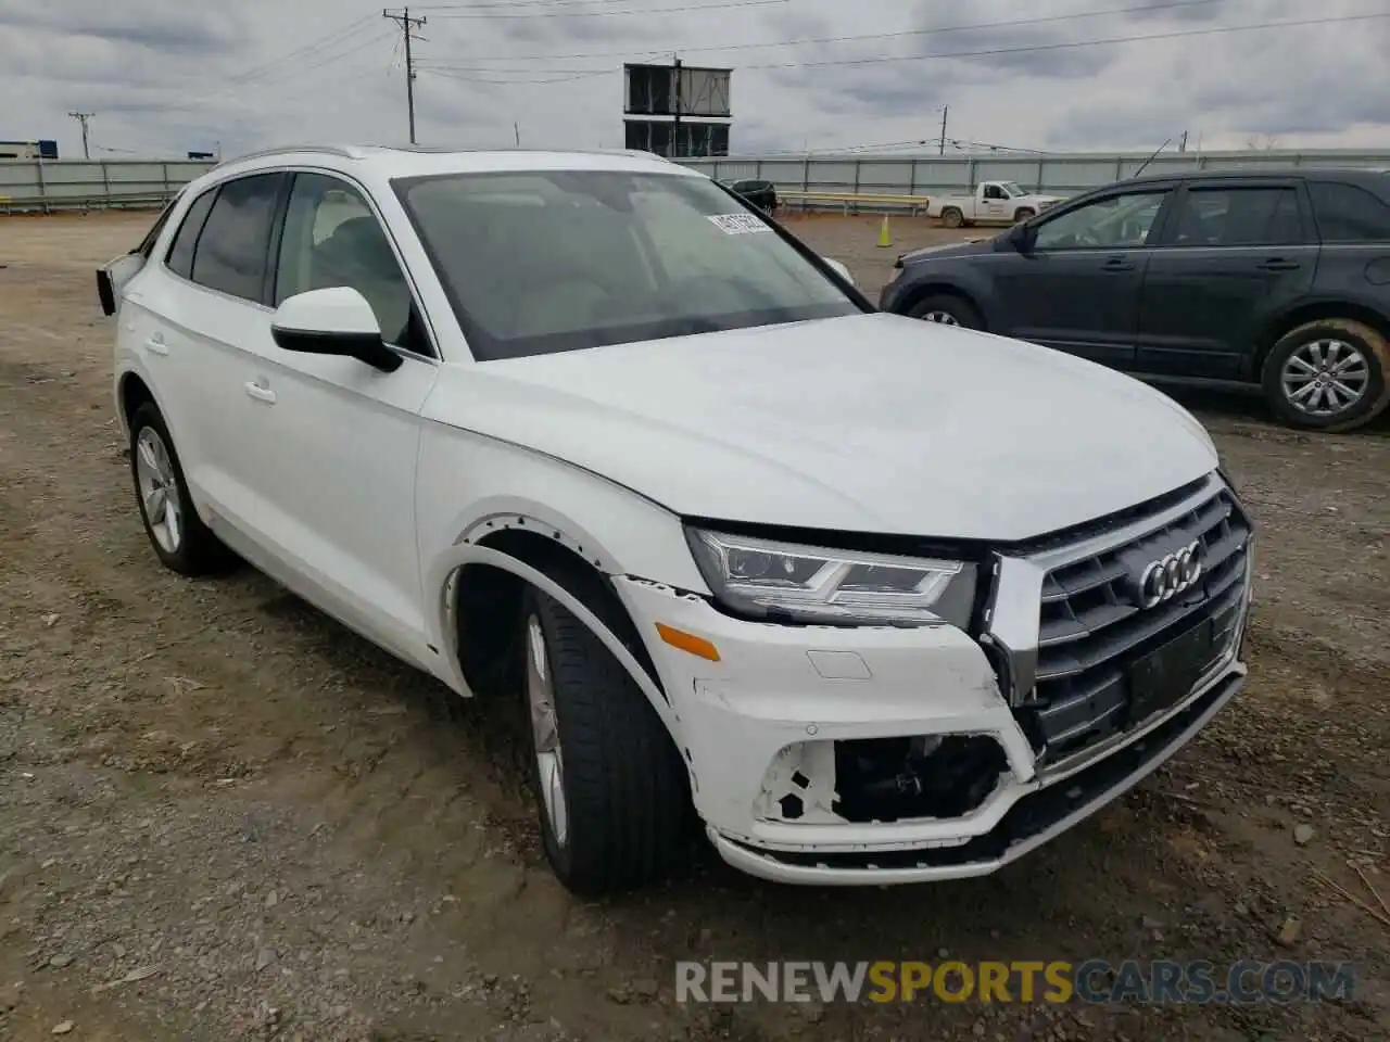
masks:
POLYGON ((270 225, 282 183, 281 174, 259 174, 222 185, 197 239, 195 282, 243 300, 261 300, 270 225))

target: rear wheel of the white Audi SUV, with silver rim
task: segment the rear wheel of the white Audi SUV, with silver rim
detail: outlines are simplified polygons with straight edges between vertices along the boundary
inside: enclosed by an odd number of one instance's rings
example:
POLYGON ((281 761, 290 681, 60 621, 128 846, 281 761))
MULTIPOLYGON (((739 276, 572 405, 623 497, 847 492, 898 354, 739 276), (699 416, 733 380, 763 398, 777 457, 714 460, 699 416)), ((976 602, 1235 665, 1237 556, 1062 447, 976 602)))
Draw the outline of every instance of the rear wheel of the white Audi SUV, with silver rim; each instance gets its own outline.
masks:
POLYGON ((153 402, 131 415, 131 479, 145 535, 165 568, 199 577, 222 571, 235 560, 199 518, 174 439, 153 402))

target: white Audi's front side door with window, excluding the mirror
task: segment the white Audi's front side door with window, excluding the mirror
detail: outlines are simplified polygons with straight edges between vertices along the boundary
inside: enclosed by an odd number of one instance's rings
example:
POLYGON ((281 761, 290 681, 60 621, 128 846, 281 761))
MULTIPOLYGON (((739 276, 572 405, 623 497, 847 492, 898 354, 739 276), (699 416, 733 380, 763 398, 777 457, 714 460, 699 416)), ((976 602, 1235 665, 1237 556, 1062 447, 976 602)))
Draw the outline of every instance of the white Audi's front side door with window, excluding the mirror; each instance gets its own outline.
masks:
MULTIPOLYGON (((371 304, 393 372, 342 356, 286 352, 267 335, 246 388, 246 438, 261 460, 261 532, 296 574, 286 585, 398 654, 431 663, 416 545, 420 410, 438 364, 375 210, 339 178, 293 175, 274 304, 350 286, 371 304)), ((245 452, 245 449, 243 449, 245 452)), ((272 572, 274 574, 274 572, 272 572)))

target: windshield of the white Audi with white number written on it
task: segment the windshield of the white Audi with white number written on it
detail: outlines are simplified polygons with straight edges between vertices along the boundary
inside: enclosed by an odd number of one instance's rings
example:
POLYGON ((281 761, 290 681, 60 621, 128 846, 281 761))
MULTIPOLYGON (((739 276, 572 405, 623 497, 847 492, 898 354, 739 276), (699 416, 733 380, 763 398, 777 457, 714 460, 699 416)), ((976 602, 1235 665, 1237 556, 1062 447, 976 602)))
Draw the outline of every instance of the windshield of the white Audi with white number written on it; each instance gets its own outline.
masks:
POLYGON ((480 361, 860 311, 706 178, 525 171, 393 185, 480 361))

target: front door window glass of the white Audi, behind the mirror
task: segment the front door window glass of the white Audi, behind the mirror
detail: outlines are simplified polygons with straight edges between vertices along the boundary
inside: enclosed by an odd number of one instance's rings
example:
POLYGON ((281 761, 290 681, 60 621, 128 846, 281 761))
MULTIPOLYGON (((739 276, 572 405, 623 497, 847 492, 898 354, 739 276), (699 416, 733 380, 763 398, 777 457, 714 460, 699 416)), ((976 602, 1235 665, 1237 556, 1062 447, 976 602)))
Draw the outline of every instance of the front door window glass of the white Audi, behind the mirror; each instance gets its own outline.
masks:
POLYGON ((275 304, 331 286, 350 286, 367 297, 386 343, 431 353, 411 335, 410 286, 367 201, 336 178, 296 174, 279 243, 275 304))

